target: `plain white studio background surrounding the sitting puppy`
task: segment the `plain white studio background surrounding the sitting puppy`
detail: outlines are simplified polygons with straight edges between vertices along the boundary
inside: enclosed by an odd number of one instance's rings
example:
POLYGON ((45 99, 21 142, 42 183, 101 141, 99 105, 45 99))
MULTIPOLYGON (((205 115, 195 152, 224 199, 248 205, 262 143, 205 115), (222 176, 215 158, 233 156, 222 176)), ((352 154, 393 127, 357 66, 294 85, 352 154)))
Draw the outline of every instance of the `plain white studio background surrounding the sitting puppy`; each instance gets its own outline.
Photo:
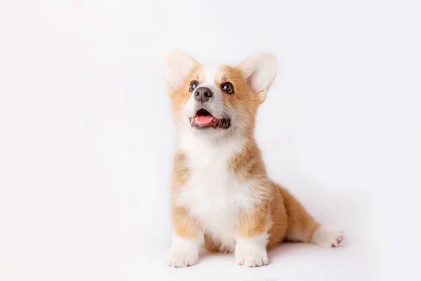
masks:
POLYGON ((2 0, 0 280, 419 280, 420 78, 417 0, 2 0), (269 175, 344 247, 167 268, 173 48, 276 55, 269 175))

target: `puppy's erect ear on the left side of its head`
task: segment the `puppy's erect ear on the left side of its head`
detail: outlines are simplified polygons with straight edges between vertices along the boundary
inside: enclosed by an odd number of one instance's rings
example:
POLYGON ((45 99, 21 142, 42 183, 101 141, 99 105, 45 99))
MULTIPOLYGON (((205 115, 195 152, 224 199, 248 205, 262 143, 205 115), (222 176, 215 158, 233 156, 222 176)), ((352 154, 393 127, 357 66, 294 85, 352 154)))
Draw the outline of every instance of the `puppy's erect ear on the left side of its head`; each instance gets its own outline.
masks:
POLYGON ((196 65, 196 60, 185 52, 174 50, 168 54, 165 63, 165 78, 170 94, 182 86, 187 75, 196 65))

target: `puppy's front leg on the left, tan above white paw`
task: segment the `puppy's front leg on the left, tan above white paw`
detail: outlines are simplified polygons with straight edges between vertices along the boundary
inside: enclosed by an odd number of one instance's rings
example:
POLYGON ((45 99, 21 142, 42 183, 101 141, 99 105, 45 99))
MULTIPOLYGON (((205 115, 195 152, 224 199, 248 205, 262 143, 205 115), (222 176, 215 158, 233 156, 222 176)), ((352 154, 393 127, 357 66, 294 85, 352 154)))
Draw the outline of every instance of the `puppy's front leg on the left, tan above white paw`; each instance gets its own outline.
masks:
POLYGON ((166 255, 166 264, 175 268, 193 266, 199 259, 203 232, 185 207, 173 207, 173 244, 166 255))

